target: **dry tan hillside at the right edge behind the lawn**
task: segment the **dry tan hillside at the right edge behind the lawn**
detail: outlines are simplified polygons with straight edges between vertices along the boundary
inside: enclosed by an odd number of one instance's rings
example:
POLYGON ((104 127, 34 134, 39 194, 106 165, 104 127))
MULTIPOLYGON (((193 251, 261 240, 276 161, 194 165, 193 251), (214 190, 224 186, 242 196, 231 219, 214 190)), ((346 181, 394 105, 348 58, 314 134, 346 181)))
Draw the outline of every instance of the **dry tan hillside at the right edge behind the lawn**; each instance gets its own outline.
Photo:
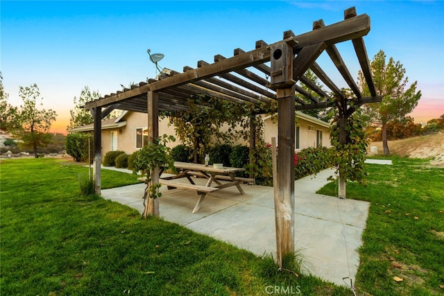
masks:
MULTIPOLYGON (((379 155, 383 155, 382 142, 371 142, 368 145, 377 146, 379 155)), ((434 157, 431 164, 444 166, 444 133, 428 134, 427 136, 388 141, 388 149, 392 155, 412 158, 434 157)))

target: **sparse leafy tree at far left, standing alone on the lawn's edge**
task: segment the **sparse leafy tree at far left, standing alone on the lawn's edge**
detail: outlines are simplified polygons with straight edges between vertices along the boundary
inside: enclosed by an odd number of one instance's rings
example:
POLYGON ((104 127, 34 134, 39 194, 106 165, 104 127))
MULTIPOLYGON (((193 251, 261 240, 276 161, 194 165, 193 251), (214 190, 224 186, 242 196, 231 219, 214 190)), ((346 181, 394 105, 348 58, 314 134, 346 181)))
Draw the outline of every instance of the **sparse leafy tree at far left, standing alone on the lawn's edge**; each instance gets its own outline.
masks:
POLYGON ((45 147, 51 142, 52 134, 48 131, 57 114, 51 109, 46 111, 37 108, 37 104, 43 105, 43 99, 40 98, 40 90, 36 84, 31 87, 20 86, 19 96, 23 101, 18 114, 19 128, 12 133, 23 141, 24 148, 31 148, 34 156, 38 157, 37 148, 45 147))

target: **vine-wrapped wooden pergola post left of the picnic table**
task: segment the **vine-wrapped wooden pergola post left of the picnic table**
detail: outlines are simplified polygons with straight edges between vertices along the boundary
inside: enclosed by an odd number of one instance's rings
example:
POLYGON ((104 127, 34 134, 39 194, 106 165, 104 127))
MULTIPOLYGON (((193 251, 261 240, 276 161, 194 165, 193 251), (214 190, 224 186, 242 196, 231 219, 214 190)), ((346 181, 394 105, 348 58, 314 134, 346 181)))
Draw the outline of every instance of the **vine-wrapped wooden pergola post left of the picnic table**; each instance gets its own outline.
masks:
MULTIPOLYGON (((154 143, 159 137, 159 100, 158 92, 148 92, 148 141, 154 143)), ((151 172, 152 184, 159 183, 159 168, 151 172)), ((159 199, 149 198, 144 209, 144 218, 159 216, 159 199)))

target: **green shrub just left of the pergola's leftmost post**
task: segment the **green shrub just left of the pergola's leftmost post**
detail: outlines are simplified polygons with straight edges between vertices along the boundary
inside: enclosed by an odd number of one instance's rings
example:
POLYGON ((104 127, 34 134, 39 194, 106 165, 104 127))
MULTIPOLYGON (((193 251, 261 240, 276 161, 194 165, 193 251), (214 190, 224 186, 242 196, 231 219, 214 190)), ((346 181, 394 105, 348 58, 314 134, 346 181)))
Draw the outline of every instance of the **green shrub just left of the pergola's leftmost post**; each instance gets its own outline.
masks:
POLYGON ((66 137, 65 149, 67 150, 67 154, 74 157, 76 162, 87 162, 88 156, 91 157, 90 161, 92 162, 94 158, 94 137, 91 133, 72 132, 66 137))

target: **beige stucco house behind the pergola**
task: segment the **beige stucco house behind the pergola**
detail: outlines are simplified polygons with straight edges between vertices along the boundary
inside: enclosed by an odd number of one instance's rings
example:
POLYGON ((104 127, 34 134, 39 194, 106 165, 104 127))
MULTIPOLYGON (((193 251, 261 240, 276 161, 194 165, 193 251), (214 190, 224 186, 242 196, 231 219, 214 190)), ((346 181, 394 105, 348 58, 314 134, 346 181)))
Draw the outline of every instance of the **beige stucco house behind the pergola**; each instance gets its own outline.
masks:
MULTIPOLYGON (((330 125, 302 112, 296 112, 296 150, 307 148, 309 146, 327 146, 330 147, 330 125)), ((264 118, 264 139, 271 143, 271 137, 278 135, 277 117, 272 116, 264 118)), ((145 113, 123 111, 116 119, 105 119, 102 121, 102 155, 108 151, 121 150, 126 154, 142 148, 148 139, 147 134, 147 115, 145 113)), ((74 128, 69 132, 92 132, 94 125, 83 125, 80 128, 74 128)), ((159 134, 172 134, 176 137, 173 126, 168 125, 168 119, 160 119, 159 134)), ((178 137, 176 137, 177 139, 178 137)), ((176 146, 180 142, 169 143, 170 146, 176 146)))

